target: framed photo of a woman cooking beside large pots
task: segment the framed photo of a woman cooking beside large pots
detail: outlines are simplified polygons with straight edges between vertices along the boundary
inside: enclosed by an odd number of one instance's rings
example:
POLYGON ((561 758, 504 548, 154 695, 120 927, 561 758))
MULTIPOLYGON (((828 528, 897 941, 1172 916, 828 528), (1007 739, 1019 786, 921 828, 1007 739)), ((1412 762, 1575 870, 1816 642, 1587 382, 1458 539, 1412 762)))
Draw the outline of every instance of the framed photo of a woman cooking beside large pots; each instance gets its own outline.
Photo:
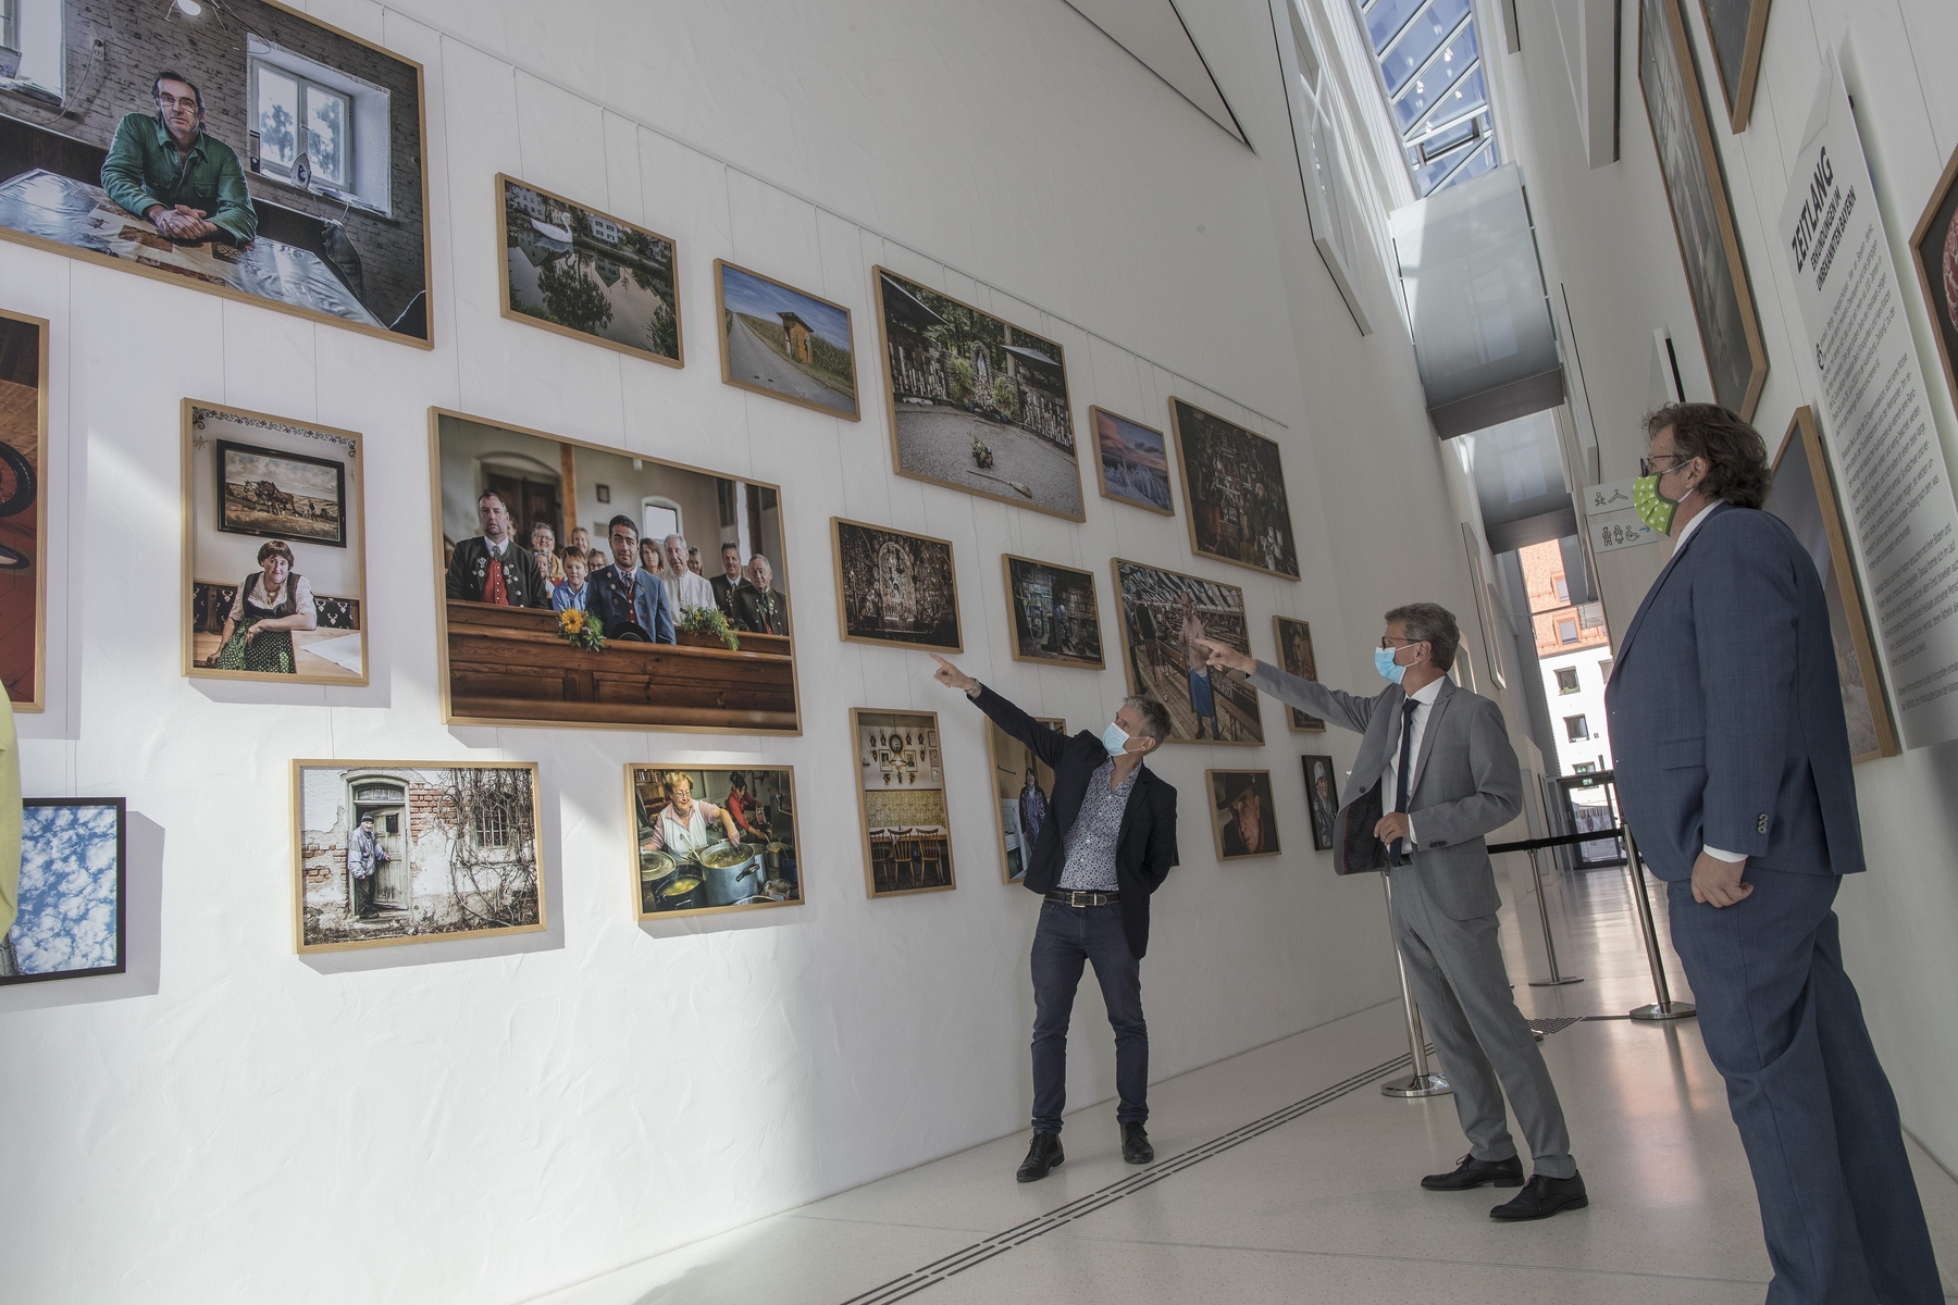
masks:
POLYGON ((793 769, 629 765, 625 794, 640 920, 803 902, 793 769))

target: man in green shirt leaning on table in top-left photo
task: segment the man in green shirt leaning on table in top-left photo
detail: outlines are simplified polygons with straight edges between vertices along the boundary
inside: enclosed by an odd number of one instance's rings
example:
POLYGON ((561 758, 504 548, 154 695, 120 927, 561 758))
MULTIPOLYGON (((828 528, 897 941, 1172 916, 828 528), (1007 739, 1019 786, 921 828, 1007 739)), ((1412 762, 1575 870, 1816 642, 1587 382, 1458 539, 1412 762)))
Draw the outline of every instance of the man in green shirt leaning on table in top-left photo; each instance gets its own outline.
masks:
POLYGON ((204 92, 178 72, 151 82, 155 113, 127 113, 102 162, 102 190, 172 241, 249 245, 258 211, 237 151, 204 131, 204 92))

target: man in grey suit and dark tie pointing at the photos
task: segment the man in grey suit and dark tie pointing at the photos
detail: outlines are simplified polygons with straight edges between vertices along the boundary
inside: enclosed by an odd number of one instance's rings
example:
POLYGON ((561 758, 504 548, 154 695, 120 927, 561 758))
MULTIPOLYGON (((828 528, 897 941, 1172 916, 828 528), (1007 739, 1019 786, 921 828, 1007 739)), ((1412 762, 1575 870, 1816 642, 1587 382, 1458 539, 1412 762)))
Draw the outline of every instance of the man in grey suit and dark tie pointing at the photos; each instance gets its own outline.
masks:
POLYGON ((1396 607, 1375 650, 1388 685, 1361 698, 1204 640, 1212 669, 1245 671, 1281 702, 1365 736, 1333 822, 1333 855, 1343 875, 1384 869, 1392 877, 1394 941, 1468 1135, 1457 1168, 1429 1174, 1422 1186, 1523 1188, 1490 1217, 1547 1219, 1582 1209, 1590 1197, 1570 1158, 1557 1088, 1510 998, 1496 945, 1500 900, 1484 835, 1521 810, 1523 779, 1502 708, 1447 677, 1459 646, 1461 630, 1445 607, 1396 607), (1527 1186, 1504 1094, 1533 1156, 1527 1186))

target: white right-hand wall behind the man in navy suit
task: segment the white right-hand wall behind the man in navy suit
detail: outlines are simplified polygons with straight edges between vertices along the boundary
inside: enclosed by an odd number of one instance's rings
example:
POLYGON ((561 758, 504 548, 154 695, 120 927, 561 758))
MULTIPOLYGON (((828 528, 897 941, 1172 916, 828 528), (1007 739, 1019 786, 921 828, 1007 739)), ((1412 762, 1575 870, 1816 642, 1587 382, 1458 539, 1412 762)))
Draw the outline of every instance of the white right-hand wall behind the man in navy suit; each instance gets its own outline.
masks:
MULTIPOLYGON (((1488 18, 1496 18, 1494 8, 1488 6, 1488 18)), ((1909 258, 1909 235, 1958 147, 1958 84, 1946 68, 1958 49, 1958 6, 1948 0, 1774 0, 1754 110, 1741 135, 1727 125, 1700 4, 1688 0, 1684 10, 1709 88, 1713 139, 1768 348, 1768 382, 1754 427, 1766 436, 1770 454, 1794 411, 1821 403, 1821 378, 1776 229, 1833 47, 1856 106, 1946 468, 1958 466, 1958 419, 1909 258)), ((1686 397, 1711 401, 1639 92, 1639 10, 1627 0, 1621 14, 1621 158, 1598 170, 1586 168, 1551 6, 1519 4, 1517 14, 1521 53, 1492 59, 1508 92, 1500 129, 1523 162, 1551 293, 1568 295, 1570 337, 1590 399, 1578 421, 1596 421, 1602 479, 1621 479, 1637 473, 1645 452, 1639 419, 1655 403, 1655 329, 1672 333, 1686 397)), ((1658 544, 1600 560, 1613 634, 1631 622, 1668 548, 1658 544)), ((1870 873, 1844 880, 1837 902, 1844 963, 1862 992, 1905 1127, 1950 1170, 1958 1170, 1958 1096, 1950 1090, 1958 1076, 1958 1019, 1952 1017, 1958 974, 1948 965, 1950 937, 1958 929, 1954 790, 1958 743, 1858 765, 1870 873)))

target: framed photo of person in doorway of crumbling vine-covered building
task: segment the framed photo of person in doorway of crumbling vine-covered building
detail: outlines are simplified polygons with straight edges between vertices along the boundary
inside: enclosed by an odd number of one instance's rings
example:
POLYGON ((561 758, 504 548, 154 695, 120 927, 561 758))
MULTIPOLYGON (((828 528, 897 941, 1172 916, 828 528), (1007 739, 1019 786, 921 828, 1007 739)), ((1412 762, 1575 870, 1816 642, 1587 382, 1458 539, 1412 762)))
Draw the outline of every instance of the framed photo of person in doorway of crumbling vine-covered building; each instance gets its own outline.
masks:
POLYGON ((535 761, 294 761, 298 951, 544 927, 535 761))

